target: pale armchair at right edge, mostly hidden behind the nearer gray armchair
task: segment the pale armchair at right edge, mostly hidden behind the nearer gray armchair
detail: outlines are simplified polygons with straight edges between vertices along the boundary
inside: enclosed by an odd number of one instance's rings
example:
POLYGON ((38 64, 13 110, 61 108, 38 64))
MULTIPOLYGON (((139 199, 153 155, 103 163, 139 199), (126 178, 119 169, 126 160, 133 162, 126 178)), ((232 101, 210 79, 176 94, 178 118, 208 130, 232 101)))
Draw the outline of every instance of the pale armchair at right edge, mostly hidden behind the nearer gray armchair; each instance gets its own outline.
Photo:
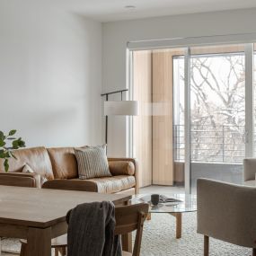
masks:
POLYGON ((256 158, 243 159, 243 184, 245 186, 256 186, 256 158))

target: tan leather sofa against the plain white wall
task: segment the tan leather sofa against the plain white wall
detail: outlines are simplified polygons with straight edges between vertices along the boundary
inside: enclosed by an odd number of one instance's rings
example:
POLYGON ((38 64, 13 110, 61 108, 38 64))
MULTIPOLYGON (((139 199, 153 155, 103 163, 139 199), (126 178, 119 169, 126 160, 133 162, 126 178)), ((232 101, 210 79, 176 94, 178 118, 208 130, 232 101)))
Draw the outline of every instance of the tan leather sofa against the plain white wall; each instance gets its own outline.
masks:
POLYGON ((10 160, 9 172, 4 172, 0 159, 0 185, 40 188, 40 176, 47 178, 42 188, 83 190, 100 193, 137 192, 137 162, 133 158, 109 158, 113 176, 79 180, 74 147, 45 148, 43 146, 15 151, 17 160, 10 160), (22 173, 28 163, 35 173, 22 173))

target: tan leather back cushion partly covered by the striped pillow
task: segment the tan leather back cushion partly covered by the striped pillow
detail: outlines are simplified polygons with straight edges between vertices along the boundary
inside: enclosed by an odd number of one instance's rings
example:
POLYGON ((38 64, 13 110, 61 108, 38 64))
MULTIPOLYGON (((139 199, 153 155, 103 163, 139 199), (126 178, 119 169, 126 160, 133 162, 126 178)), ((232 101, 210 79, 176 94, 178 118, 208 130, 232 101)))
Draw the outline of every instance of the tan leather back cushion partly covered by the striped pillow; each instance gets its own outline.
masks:
POLYGON ((74 147, 48 148, 55 179, 75 179, 78 177, 74 147))

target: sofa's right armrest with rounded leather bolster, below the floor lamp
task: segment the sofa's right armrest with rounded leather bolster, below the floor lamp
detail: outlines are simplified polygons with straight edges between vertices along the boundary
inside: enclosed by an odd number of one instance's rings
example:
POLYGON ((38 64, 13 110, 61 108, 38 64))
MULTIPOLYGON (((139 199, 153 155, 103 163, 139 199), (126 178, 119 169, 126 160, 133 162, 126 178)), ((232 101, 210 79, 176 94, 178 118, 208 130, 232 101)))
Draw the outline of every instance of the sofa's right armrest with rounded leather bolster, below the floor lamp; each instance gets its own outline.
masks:
POLYGON ((132 175, 135 176, 136 187, 135 192, 138 194, 138 170, 137 160, 135 158, 127 157, 109 157, 110 172, 112 175, 132 175))

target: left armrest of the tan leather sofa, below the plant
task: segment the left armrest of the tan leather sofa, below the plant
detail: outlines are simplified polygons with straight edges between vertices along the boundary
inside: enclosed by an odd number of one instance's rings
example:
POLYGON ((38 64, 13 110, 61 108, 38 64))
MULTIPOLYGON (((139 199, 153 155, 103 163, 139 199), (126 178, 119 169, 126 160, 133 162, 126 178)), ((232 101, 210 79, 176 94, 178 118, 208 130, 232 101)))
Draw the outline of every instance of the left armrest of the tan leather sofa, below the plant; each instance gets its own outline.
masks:
POLYGON ((0 172, 0 185, 40 188, 40 174, 24 172, 0 172))

